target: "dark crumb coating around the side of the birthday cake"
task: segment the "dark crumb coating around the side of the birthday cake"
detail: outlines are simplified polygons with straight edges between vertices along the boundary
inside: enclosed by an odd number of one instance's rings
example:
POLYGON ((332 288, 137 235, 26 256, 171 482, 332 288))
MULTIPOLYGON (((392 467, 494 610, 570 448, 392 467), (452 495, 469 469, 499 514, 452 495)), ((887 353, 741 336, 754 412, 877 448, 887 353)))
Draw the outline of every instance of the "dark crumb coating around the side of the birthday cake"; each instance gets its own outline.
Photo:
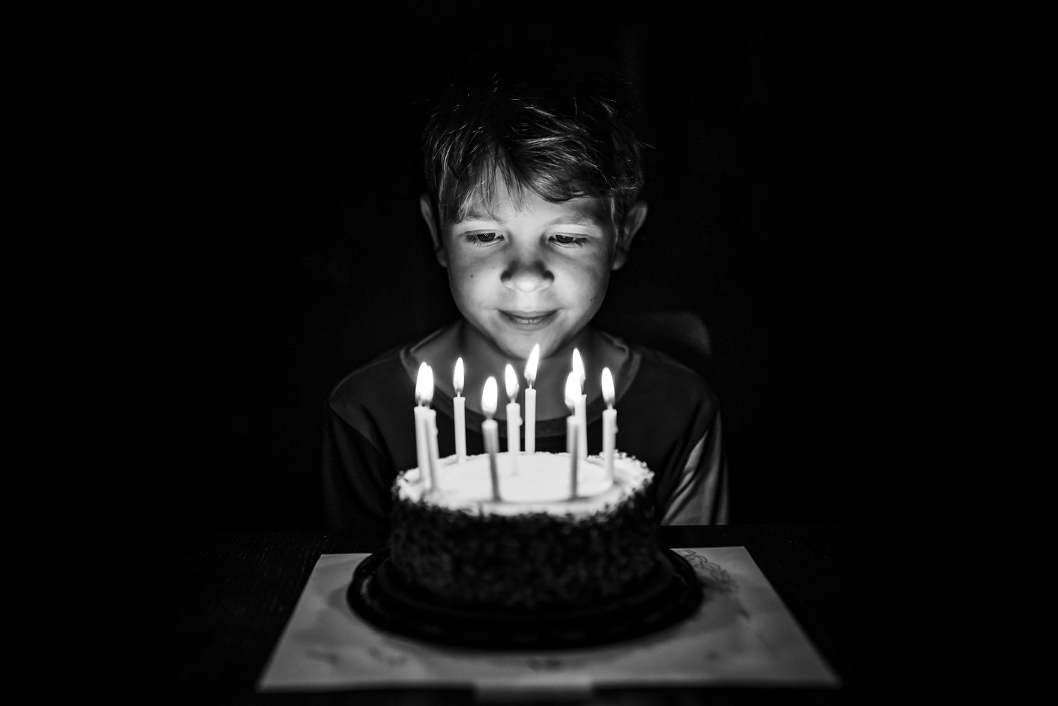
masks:
POLYGON ((443 507, 395 486, 390 561, 406 587, 453 608, 598 605, 638 590, 662 561, 647 486, 587 514, 443 507))

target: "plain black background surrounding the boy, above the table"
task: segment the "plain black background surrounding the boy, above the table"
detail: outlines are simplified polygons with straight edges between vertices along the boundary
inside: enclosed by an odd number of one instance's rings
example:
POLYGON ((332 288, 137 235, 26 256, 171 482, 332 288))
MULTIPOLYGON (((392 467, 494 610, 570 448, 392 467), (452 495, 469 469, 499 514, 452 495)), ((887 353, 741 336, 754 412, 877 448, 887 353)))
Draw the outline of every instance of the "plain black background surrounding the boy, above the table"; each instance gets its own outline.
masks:
POLYGON ((651 213, 601 316, 706 321, 733 521, 1020 507, 1054 431, 1039 46, 889 3, 573 6, 23 10, 5 240, 37 526, 323 526, 330 388, 455 315, 424 98, 496 44, 636 87, 651 213))

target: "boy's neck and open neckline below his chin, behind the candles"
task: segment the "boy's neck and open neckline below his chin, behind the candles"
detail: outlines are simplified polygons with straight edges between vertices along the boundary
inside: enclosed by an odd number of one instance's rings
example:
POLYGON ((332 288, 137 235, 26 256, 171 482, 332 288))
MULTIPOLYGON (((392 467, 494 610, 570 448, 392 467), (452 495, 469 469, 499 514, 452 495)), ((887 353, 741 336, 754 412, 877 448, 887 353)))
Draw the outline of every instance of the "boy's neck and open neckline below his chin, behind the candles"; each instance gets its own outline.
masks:
MULTIPOLYGON (((565 404, 566 376, 572 369, 572 354, 577 348, 584 361, 584 392, 588 400, 601 394, 600 376, 604 366, 617 373, 624 362, 622 351, 616 349, 608 341, 599 336, 591 326, 587 326, 573 340, 547 358, 542 358, 536 368, 536 380, 533 388, 536 393, 536 415, 542 419, 551 419, 569 414, 565 404)), ((473 326, 460 321, 456 326, 428 341, 416 351, 416 357, 425 360, 434 368, 434 383, 446 395, 454 395, 452 372, 456 360, 463 359, 464 380, 463 397, 467 406, 481 411, 481 390, 489 376, 496 378, 499 386, 497 400, 497 418, 506 418, 505 408, 508 400, 504 388, 504 369, 510 363, 518 374, 518 402, 525 404, 525 359, 511 358, 499 350, 493 343, 473 326)))

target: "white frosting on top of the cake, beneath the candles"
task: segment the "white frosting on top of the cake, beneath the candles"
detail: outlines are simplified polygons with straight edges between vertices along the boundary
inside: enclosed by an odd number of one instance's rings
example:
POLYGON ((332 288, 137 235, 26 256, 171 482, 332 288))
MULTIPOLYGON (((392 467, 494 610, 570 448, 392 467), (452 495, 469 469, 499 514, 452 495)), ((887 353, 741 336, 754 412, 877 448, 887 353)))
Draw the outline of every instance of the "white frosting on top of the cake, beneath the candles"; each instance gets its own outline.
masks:
MULTIPOLYGON (((469 456, 456 463, 455 456, 440 459, 438 488, 426 493, 430 503, 453 510, 492 514, 591 514, 618 503, 650 479, 651 471, 632 456, 616 454, 614 478, 607 476, 600 456, 589 456, 578 464, 577 497, 571 497, 569 454, 519 453, 516 468, 508 453, 496 454, 500 501, 493 500, 489 455, 469 456)), ((426 492, 418 468, 401 474, 397 492, 406 500, 419 501, 426 492)))

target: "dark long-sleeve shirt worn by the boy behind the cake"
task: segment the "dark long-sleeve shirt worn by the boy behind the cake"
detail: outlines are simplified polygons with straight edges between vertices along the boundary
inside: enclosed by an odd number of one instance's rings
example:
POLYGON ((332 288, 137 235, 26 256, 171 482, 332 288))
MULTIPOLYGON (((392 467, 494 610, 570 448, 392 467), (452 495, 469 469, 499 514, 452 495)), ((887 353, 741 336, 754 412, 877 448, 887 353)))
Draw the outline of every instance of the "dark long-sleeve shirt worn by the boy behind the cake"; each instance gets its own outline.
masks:
MULTIPOLYGON (((727 523, 727 465, 715 394, 694 370, 659 351, 628 345, 617 391, 617 448, 654 471, 651 494, 659 524, 727 523)), ((390 489, 399 471, 418 465, 415 443, 413 346, 390 350, 344 378, 327 403, 324 503, 333 529, 384 539, 390 489)), ((436 390, 441 457, 455 453, 452 397, 436 390)), ((605 403, 587 406, 588 452, 602 451, 605 403)), ((484 417, 467 410, 467 453, 485 452, 484 417)), ((499 424, 506 436, 506 424, 499 424)), ((500 448, 506 442, 500 441, 500 448)), ((566 418, 536 420, 536 450, 566 450, 566 418)))

